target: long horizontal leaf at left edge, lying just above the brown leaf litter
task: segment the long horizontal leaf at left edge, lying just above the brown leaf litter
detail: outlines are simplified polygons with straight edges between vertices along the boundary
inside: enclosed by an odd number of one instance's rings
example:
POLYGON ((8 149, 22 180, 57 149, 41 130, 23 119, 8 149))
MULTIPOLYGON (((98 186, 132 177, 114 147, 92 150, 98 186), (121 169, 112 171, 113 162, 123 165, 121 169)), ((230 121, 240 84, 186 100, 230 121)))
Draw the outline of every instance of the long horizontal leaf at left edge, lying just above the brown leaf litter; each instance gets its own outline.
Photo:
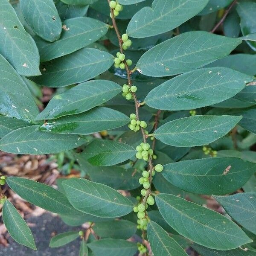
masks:
POLYGON ((86 140, 73 134, 38 131, 38 125, 19 128, 0 140, 0 150, 12 154, 53 154, 81 146, 86 140))

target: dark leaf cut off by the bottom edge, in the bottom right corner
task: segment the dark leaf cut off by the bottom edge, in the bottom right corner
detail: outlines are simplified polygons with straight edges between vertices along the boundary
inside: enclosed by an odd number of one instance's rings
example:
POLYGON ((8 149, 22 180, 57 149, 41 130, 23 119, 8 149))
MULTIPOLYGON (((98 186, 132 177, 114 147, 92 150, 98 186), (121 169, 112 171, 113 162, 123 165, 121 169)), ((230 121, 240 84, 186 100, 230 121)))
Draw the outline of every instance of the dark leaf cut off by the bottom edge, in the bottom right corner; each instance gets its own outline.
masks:
POLYGON ((251 249, 244 250, 236 248, 233 250, 213 250, 199 244, 192 244, 191 247, 200 253, 201 256, 255 256, 255 252, 251 249))

